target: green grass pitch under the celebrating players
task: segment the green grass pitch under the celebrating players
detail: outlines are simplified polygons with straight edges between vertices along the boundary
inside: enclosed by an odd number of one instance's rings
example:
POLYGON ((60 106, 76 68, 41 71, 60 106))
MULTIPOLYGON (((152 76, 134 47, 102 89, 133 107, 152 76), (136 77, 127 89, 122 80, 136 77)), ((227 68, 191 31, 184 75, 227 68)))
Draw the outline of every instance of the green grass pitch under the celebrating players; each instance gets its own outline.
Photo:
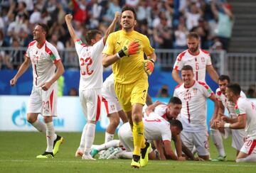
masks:
MULTIPOLYGON (((75 158, 81 133, 58 133, 64 138, 54 159, 40 160, 46 149, 46 137, 34 132, 0 132, 0 172, 256 172, 255 163, 235 163, 231 138, 224 140, 226 162, 177 162, 149 160, 146 167, 132 169, 131 160, 85 161, 75 158)), ((95 144, 103 143, 104 133, 95 135, 95 144)), ((218 153, 210 141, 210 157, 218 153)))

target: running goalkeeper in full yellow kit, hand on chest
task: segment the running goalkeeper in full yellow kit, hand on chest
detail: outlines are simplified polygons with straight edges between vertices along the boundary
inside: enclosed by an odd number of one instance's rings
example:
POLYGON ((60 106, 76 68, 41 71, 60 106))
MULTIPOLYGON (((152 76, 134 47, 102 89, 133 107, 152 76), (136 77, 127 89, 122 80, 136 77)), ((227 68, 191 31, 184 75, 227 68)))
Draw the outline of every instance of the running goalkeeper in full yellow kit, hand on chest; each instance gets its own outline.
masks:
POLYGON ((124 6, 121 13, 122 30, 109 35, 103 50, 102 65, 112 65, 114 89, 127 113, 134 137, 132 167, 144 167, 148 162, 150 144, 144 139, 142 107, 146 102, 148 75, 154 70, 156 54, 149 38, 134 30, 134 8, 124 6), (144 60, 144 53, 148 60, 144 60))

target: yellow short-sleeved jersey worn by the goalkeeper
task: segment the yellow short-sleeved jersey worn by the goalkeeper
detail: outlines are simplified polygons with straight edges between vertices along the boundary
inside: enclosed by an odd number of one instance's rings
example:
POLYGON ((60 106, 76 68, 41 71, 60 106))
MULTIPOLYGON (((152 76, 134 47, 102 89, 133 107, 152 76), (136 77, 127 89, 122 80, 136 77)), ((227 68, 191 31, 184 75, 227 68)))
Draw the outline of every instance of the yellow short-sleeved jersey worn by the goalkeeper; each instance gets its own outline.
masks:
POLYGON ((119 84, 131 84, 143 76, 146 76, 147 79, 147 74, 144 72, 143 67, 144 53, 148 56, 154 52, 154 48, 151 47, 149 38, 147 38, 146 35, 138 33, 135 30, 130 33, 119 30, 108 36, 107 43, 102 53, 107 55, 116 54, 119 50, 122 50, 127 40, 129 40, 129 43, 139 41, 141 49, 137 54, 124 56, 117 62, 114 62, 112 66, 114 80, 119 84))

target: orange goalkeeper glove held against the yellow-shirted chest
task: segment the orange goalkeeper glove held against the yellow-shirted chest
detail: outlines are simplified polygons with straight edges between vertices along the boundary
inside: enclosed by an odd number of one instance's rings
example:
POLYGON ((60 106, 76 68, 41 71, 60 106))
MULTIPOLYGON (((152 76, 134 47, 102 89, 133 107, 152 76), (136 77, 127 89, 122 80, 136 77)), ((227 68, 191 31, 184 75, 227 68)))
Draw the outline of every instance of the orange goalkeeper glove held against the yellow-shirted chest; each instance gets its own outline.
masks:
POLYGON ((129 42, 129 40, 126 41, 122 50, 120 50, 117 53, 118 57, 129 56, 129 55, 133 55, 133 54, 136 54, 139 52, 140 44, 138 41, 133 41, 129 45, 128 45, 128 42, 129 42))

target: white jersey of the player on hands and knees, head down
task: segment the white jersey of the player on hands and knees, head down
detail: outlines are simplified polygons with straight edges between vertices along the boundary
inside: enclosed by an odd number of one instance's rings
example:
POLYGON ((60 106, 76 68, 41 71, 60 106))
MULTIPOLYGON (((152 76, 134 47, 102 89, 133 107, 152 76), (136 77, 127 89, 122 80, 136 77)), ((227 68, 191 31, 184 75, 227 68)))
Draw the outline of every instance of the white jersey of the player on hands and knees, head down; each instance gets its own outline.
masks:
POLYGON ((171 141, 170 123, 156 113, 149 113, 142 119, 144 123, 144 136, 146 140, 169 140, 171 141))

